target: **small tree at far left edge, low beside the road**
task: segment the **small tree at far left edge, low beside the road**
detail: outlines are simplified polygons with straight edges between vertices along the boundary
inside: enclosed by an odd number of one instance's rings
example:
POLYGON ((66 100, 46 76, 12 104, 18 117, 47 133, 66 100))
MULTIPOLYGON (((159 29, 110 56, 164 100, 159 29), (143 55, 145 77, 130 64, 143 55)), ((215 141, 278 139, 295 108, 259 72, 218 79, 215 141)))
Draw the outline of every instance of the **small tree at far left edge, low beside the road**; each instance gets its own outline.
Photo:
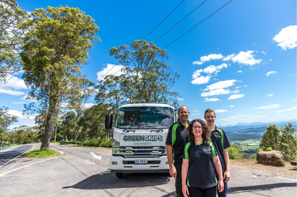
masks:
POLYGON ((7 107, 0 107, 0 147, 2 147, 2 142, 4 139, 4 133, 7 131, 7 127, 13 125, 14 123, 18 122, 17 116, 11 116, 8 113, 7 107))

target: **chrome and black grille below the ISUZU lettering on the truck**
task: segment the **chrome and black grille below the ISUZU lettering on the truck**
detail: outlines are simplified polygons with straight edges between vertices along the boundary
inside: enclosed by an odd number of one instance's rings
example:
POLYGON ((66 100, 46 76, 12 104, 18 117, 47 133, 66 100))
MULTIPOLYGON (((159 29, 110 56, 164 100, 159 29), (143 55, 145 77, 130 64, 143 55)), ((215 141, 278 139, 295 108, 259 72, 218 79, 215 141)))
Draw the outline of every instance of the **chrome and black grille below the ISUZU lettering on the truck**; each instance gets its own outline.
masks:
POLYGON ((165 155, 165 146, 121 146, 120 155, 124 157, 146 157, 165 155))

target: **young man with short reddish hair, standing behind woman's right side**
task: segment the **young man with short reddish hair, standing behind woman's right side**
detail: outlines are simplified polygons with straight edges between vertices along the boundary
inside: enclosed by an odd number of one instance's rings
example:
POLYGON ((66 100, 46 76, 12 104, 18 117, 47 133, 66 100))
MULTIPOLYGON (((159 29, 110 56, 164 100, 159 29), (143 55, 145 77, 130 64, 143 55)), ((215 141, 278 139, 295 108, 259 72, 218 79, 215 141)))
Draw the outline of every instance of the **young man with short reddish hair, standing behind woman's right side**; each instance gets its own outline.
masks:
MULTIPOLYGON (((216 119, 216 114, 214 110, 208 109, 204 112, 204 119, 209 126, 211 131, 211 140, 217 149, 219 159, 222 165, 222 173, 224 179, 224 190, 222 192, 217 192, 218 197, 226 197, 227 196, 227 182, 230 179, 230 164, 229 164, 229 154, 228 154, 228 147, 230 147, 229 141, 225 132, 218 128, 214 121, 216 119)), ((217 179, 218 179, 218 175, 217 179)))

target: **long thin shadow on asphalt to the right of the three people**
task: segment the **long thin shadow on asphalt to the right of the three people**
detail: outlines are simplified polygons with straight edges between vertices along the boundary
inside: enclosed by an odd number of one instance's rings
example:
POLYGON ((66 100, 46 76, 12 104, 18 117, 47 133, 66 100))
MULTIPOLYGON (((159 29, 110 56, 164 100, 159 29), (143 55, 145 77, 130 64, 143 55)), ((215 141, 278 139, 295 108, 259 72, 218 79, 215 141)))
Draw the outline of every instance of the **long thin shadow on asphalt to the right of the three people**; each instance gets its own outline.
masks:
POLYGON ((273 183, 266 185, 254 185, 246 187, 228 187, 228 193, 241 193, 241 192, 251 192, 251 191, 263 191, 271 190, 279 187, 296 187, 296 182, 293 183, 273 183))

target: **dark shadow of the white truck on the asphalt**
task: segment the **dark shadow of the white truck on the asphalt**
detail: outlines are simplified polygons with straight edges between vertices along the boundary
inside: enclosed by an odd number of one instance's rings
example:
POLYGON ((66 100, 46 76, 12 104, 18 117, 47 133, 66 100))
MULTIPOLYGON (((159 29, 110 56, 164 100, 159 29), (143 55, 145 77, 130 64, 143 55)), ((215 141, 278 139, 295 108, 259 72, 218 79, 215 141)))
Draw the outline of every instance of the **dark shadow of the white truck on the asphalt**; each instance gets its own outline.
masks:
POLYGON ((81 190, 101 190, 130 187, 150 187, 169 183, 168 173, 130 173, 125 178, 117 178, 115 173, 104 171, 65 188, 81 190))

